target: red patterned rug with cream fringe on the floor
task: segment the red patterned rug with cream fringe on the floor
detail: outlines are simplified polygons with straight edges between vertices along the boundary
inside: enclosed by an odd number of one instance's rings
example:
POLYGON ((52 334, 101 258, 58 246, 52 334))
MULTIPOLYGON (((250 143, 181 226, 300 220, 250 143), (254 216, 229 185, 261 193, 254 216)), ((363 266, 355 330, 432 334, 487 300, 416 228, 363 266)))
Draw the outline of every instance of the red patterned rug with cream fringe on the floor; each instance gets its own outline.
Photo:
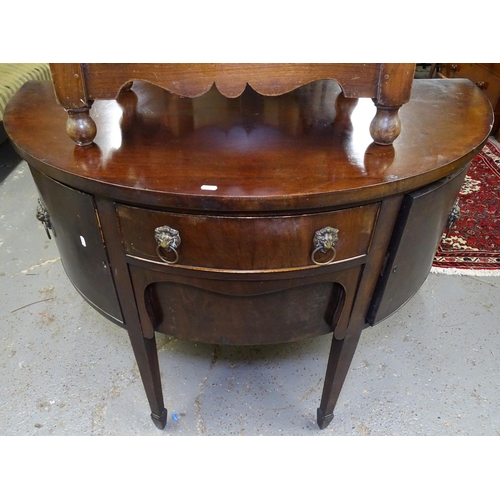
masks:
POLYGON ((432 272, 500 276, 500 148, 488 141, 458 196, 460 219, 443 234, 432 272))

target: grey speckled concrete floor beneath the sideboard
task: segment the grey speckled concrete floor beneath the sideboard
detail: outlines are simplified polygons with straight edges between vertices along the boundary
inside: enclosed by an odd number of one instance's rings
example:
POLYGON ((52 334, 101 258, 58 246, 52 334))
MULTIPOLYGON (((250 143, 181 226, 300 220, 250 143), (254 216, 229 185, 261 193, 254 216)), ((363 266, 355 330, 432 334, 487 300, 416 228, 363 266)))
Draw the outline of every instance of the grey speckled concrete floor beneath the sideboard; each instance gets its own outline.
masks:
POLYGON ((159 431, 125 330, 70 284, 36 202, 26 163, 3 143, 0 435, 500 435, 500 277, 432 274, 364 331, 326 430, 315 416, 329 336, 247 348, 160 336, 159 431))

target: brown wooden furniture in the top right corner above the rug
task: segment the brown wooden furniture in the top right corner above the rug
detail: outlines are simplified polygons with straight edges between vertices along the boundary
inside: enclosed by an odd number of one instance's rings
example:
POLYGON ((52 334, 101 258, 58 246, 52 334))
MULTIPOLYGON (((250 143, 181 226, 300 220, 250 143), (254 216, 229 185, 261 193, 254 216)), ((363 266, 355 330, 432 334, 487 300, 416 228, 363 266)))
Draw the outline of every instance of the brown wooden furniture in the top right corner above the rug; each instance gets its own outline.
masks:
POLYGON ((440 63, 435 65, 440 78, 467 78, 489 99, 495 114, 492 134, 500 140, 500 63, 440 63))

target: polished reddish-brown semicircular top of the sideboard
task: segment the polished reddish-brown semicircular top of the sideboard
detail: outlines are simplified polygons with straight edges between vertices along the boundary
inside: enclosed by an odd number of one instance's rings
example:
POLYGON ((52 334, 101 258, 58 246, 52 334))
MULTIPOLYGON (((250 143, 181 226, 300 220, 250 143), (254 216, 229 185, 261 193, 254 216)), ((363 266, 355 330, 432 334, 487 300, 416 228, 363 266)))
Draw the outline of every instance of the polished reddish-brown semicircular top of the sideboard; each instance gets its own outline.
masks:
POLYGON ((313 210, 410 191, 470 161, 491 130, 467 80, 416 80, 392 146, 372 142, 370 99, 333 81, 265 97, 247 88, 182 98, 145 82, 96 101, 95 143, 77 147, 50 82, 29 82, 4 118, 29 163, 75 188, 144 206, 193 211, 313 210))

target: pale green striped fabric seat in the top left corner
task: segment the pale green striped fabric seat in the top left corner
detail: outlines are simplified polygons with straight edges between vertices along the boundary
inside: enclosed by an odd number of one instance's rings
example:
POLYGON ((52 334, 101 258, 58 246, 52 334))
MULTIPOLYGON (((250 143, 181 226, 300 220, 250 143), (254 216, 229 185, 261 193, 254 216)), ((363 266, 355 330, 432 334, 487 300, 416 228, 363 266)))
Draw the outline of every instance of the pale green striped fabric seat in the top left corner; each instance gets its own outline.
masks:
POLYGON ((0 64, 0 143, 7 138, 3 112, 9 99, 29 80, 50 80, 50 68, 44 63, 0 64))

